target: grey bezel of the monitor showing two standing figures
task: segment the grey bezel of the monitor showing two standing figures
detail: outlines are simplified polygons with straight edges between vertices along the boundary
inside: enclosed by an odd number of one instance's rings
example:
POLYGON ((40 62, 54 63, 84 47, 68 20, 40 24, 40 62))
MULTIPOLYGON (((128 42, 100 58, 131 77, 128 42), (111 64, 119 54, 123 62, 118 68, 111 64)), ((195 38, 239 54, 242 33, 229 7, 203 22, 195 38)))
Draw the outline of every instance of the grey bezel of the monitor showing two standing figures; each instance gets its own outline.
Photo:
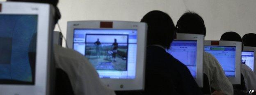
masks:
POLYGON ((146 59, 146 23, 128 21, 69 21, 67 23, 67 45, 73 48, 74 29, 137 29, 137 61, 135 79, 101 79, 103 84, 113 90, 144 90, 145 59, 146 59), (112 28, 101 28, 101 22, 112 22, 112 28), (123 87, 121 87, 121 85, 123 87))

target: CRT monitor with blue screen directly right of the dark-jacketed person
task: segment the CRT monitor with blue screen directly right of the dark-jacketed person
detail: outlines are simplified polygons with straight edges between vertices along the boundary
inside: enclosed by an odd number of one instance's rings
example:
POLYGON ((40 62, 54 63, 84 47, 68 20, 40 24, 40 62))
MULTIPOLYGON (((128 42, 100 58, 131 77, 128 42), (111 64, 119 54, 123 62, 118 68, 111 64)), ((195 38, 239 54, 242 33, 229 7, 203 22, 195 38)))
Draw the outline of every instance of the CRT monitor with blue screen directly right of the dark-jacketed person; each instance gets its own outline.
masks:
POLYGON ((204 35, 178 33, 167 50, 187 66, 199 87, 203 87, 203 41, 204 35))

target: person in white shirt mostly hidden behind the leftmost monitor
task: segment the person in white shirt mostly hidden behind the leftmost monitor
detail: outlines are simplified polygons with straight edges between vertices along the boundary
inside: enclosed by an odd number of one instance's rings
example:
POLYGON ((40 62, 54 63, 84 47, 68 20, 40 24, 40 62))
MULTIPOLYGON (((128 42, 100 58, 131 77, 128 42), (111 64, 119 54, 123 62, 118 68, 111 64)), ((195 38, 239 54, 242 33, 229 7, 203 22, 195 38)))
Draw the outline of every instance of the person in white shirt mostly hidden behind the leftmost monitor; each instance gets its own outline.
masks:
MULTIPOLYGON (((54 23, 56 24, 60 19, 61 15, 57 8, 59 0, 7 0, 14 2, 38 2, 48 3, 55 8, 54 23)), ((53 25, 52 27, 55 27, 53 25)), ((53 31, 53 30, 52 30, 53 31)), ((72 49, 66 49, 59 45, 54 45, 53 55, 55 59, 55 66, 57 71, 62 70, 63 72, 56 72, 56 79, 61 77, 68 77, 69 79, 56 80, 56 95, 115 95, 114 91, 107 88, 98 77, 98 73, 88 59, 82 54, 72 49), (65 73, 67 76, 62 76, 65 73), (62 83, 59 83, 62 81, 62 83), (71 88, 65 86, 66 81, 70 81, 71 88), (72 91, 69 91, 72 90, 72 91), (70 93, 72 92, 72 93, 70 93)), ((64 74, 64 75, 65 75, 64 74)), ((36 80, 36 79, 35 79, 36 80)))

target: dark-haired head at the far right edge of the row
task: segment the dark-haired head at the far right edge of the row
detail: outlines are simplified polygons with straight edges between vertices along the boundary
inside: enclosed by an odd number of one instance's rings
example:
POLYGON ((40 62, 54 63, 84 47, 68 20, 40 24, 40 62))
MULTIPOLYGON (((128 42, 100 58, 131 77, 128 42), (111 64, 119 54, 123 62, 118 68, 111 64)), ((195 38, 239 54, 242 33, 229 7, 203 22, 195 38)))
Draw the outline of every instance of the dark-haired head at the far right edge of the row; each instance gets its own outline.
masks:
POLYGON ((242 37, 245 46, 256 47, 256 34, 249 33, 242 37))

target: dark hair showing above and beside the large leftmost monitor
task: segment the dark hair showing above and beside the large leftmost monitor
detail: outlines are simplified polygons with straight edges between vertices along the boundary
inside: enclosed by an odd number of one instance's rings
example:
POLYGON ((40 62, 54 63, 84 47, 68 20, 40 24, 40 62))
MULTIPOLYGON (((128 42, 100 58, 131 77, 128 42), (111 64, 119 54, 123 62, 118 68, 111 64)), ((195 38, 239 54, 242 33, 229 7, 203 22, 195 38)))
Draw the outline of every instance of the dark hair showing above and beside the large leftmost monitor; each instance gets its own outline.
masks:
POLYGON ((48 3, 48 4, 53 5, 53 7, 55 7, 54 23, 55 24, 58 23, 58 20, 61 18, 59 8, 57 7, 59 0, 7 0, 7 1, 48 3))

